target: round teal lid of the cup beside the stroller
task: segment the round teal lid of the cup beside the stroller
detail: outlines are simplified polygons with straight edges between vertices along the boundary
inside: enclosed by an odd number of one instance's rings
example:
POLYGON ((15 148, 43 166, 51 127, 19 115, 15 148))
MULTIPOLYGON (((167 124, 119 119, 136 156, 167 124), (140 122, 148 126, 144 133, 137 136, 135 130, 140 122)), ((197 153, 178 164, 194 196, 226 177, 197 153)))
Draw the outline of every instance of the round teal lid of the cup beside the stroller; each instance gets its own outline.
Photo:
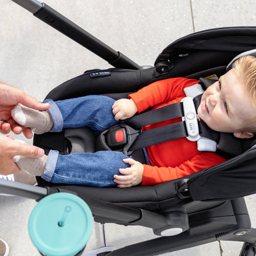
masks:
POLYGON ((86 202, 74 194, 55 193, 34 207, 28 232, 42 254, 74 256, 86 246, 92 226, 92 212, 86 202))

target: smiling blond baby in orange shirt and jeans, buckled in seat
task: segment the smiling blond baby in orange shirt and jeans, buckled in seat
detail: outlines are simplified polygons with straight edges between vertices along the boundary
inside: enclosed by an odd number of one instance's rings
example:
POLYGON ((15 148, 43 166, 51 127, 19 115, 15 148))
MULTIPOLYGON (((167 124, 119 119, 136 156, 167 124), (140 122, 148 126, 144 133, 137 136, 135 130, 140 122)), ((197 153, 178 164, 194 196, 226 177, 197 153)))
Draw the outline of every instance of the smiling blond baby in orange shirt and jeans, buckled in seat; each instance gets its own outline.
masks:
MULTIPOLYGON (((18 124, 30 127, 35 134, 60 132, 65 128, 90 127, 99 134, 120 119, 152 110, 186 97, 183 89, 198 83, 194 79, 170 78, 143 87, 129 99, 116 102, 109 97, 89 95, 50 103, 47 111, 35 111, 15 106, 12 118, 18 124)), ((256 58, 241 57, 233 68, 204 92, 198 107, 199 118, 218 132, 233 133, 238 138, 250 138, 256 132, 256 58)), ((180 119, 164 121, 143 127, 153 129, 180 119)), ((15 157, 16 158, 16 157, 15 157)), ((148 164, 142 164, 118 151, 58 154, 50 150, 42 158, 16 158, 17 166, 31 175, 38 175, 54 183, 86 186, 155 185, 185 177, 225 161, 213 152, 199 152, 196 142, 178 138, 148 146, 145 151, 148 164)))

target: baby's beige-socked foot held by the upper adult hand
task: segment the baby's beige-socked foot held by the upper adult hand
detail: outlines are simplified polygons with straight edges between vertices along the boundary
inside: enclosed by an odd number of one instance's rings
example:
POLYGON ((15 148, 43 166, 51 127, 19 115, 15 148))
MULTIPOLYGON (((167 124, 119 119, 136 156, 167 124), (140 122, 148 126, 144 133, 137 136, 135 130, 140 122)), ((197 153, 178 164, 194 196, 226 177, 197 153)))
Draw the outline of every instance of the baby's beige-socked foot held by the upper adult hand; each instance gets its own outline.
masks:
POLYGON ((39 111, 26 106, 15 106, 11 111, 12 118, 21 126, 29 127, 35 134, 49 132, 54 125, 52 116, 48 110, 39 111))

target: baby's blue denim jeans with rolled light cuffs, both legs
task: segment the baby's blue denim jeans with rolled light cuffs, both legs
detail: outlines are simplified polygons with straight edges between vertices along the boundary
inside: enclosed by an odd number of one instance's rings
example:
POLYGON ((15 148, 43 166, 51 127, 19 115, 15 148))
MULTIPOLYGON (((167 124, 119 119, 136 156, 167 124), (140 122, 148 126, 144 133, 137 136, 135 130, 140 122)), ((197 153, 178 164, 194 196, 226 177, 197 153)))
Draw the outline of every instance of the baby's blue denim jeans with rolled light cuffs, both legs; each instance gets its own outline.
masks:
MULTIPOLYGON (((50 132, 61 132, 64 128, 90 127, 95 134, 118 124, 112 113, 114 100, 99 95, 89 95, 50 103, 50 114, 54 127, 50 132)), ((42 178, 47 182, 68 183, 86 186, 116 186, 114 174, 121 175, 119 168, 130 167, 122 159, 128 158, 117 151, 96 153, 58 154, 50 150, 46 171, 42 178)))

